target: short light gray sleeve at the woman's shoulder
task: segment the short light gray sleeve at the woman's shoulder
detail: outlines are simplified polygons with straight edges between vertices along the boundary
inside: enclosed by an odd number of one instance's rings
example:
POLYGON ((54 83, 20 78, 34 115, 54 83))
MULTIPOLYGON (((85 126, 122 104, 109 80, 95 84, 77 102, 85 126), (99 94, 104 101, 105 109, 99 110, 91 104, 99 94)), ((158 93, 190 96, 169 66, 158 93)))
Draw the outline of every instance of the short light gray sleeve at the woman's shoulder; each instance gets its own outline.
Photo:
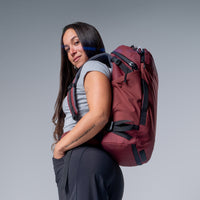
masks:
POLYGON ((79 84, 82 84, 82 85, 84 84, 85 76, 90 71, 101 72, 101 73, 105 74, 108 77, 108 79, 110 80, 111 71, 108 68, 108 66, 99 61, 90 60, 90 61, 87 61, 81 69, 80 77, 78 80, 79 84))

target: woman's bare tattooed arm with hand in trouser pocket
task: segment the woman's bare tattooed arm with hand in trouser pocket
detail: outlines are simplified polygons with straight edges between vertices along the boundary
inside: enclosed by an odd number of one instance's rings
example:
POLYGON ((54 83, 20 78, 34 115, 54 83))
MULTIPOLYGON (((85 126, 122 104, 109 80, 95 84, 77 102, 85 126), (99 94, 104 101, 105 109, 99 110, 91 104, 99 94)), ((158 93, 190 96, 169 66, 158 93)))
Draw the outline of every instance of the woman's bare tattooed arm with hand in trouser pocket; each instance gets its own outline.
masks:
POLYGON ((64 155, 65 151, 90 140, 108 122, 111 109, 109 79, 101 72, 88 72, 85 76, 84 88, 89 112, 55 145, 54 158, 59 159, 64 155))

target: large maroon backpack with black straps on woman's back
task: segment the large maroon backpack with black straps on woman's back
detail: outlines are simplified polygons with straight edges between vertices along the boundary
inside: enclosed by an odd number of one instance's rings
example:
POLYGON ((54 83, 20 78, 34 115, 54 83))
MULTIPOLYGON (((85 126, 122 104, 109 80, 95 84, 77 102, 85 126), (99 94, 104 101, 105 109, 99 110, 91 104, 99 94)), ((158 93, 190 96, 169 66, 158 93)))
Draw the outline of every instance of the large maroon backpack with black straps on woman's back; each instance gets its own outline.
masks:
MULTIPOLYGON (((119 46, 111 54, 92 58, 112 63, 112 111, 102 147, 121 166, 146 163, 152 154, 157 115, 158 74, 151 53, 134 46, 119 46)), ((76 74, 68 92, 70 111, 79 119, 76 104, 76 74)))

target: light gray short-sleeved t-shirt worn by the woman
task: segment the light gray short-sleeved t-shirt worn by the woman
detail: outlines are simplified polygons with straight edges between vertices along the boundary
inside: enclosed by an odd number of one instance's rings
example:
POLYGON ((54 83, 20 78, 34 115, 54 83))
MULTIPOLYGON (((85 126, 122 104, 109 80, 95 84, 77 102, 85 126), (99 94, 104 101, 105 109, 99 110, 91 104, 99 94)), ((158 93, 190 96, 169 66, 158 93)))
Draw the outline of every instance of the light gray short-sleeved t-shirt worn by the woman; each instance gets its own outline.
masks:
MULTIPOLYGON (((90 60, 90 61, 87 61, 83 65, 81 73, 80 73, 80 77, 77 81, 77 88, 76 88, 77 106, 78 106, 80 117, 83 117, 89 111, 85 89, 84 89, 84 78, 86 74, 90 71, 102 72, 110 79, 111 69, 108 68, 105 64, 96 60, 90 60)), ((65 133, 67 131, 70 131, 77 123, 77 121, 73 120, 72 118, 71 112, 69 110, 68 102, 67 102, 67 97, 65 97, 63 101, 63 111, 66 115, 65 121, 64 121, 64 128, 63 128, 63 131, 65 133)))

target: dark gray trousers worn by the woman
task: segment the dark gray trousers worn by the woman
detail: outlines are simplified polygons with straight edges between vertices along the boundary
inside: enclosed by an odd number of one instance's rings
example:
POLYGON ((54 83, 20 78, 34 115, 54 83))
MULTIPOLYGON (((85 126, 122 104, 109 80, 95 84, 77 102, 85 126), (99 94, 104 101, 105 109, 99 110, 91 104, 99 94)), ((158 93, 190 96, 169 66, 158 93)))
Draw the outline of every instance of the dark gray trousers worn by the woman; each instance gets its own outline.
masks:
POLYGON ((59 200, 121 200, 120 167, 102 149, 80 146, 53 158, 59 200))

